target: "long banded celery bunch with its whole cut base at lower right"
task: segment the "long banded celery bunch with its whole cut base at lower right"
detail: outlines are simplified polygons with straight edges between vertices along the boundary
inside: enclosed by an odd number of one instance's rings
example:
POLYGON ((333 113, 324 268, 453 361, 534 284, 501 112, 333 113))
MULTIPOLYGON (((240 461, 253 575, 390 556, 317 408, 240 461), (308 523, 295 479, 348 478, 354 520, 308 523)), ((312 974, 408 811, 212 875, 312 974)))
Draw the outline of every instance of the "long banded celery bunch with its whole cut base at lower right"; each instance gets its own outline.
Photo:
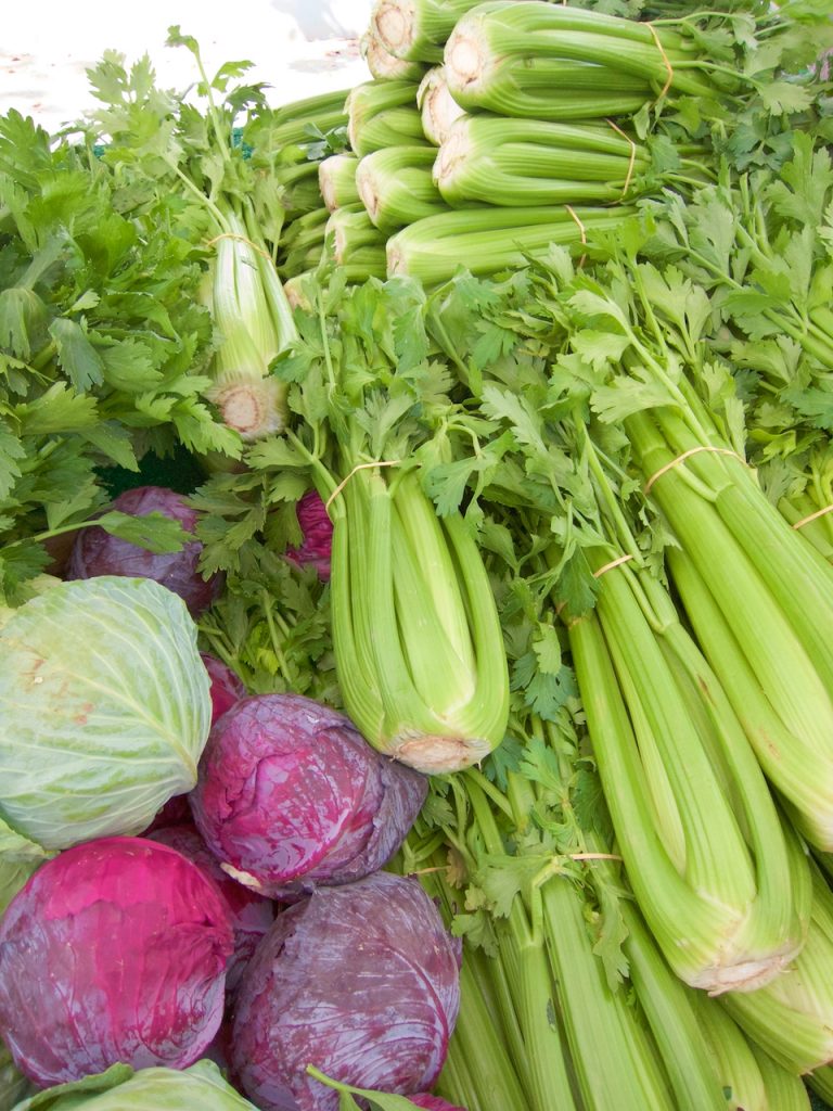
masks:
MULTIPOLYGON (((572 273, 563 253, 552 259, 572 273)), ((504 446, 500 460, 502 472, 515 460, 525 476, 511 504, 523 507, 533 536, 555 538, 539 574, 564 603, 590 740, 642 913, 689 984, 751 990, 803 943, 806 863, 776 811, 733 695, 683 627, 652 567, 656 557, 641 549, 648 522, 649 534, 659 527, 639 488, 623 478, 625 442, 583 417, 593 368, 560 354, 558 276, 545 277, 544 263, 539 270, 478 291, 461 280, 456 296, 444 290, 438 300, 461 350, 498 350, 505 360, 481 361, 470 389, 496 423, 494 434, 516 444, 504 446), (466 298, 478 308, 471 337, 460 336, 466 298), (538 304, 534 316, 530 304, 538 304), (490 332, 498 334, 483 343, 490 332)), ((574 298, 586 291, 589 303, 590 284, 576 276, 574 298)), ((580 344, 576 334, 568 342, 580 344)), ((584 334, 601 343, 596 332, 584 334)), ((605 346, 605 356, 618 358, 622 346, 605 346)))

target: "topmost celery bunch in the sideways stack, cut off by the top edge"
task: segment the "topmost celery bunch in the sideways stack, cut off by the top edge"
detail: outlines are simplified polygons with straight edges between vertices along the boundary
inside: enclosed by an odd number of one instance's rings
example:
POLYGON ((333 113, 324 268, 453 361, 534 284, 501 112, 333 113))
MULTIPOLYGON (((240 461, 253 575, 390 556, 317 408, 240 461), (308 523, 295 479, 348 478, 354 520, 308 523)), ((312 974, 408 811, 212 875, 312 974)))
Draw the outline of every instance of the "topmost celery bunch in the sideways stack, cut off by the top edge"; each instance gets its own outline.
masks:
POLYGON ((377 0, 371 33, 397 58, 442 61, 443 43, 458 19, 479 0, 377 0))

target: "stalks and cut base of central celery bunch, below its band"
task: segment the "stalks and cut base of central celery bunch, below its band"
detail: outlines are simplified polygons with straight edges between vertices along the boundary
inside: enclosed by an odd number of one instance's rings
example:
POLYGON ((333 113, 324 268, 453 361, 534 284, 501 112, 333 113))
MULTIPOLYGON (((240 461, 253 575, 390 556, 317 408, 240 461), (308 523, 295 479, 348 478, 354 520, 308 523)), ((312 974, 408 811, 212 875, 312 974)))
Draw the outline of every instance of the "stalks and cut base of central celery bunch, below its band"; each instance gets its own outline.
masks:
POLYGON ((413 471, 357 470, 333 506, 333 644, 348 713, 374 748, 421 771, 478 762, 503 740, 509 677, 465 523, 440 520, 413 471))

